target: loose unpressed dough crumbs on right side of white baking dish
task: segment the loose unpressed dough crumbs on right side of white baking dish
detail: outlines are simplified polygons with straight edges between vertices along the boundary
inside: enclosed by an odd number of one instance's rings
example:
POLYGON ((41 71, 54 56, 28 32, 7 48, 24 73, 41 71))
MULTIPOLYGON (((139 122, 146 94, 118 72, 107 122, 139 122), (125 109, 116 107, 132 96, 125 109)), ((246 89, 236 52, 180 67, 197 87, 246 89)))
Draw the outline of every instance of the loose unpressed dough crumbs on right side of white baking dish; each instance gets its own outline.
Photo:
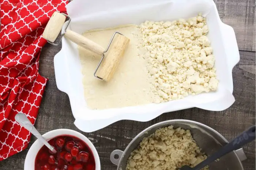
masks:
POLYGON ((217 90, 215 58, 201 14, 188 20, 146 21, 139 28, 139 48, 145 49, 142 55, 159 102, 217 90))

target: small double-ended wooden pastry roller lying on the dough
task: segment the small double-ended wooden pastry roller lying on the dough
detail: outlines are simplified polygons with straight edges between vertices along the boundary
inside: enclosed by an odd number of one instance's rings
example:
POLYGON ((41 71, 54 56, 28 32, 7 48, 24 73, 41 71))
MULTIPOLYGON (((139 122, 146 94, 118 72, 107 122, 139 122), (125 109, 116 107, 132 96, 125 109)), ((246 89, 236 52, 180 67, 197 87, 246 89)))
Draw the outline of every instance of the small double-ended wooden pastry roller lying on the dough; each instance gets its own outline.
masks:
MULTIPOLYGON (((44 33, 42 35, 43 38, 53 43, 61 31, 65 19, 66 17, 61 13, 54 12, 45 27, 44 33)), ((105 51, 105 49, 99 44, 74 31, 67 30, 64 36, 79 46, 86 48, 89 51, 95 52, 96 54, 103 55, 105 51)), ((113 44, 111 43, 108 50, 108 55, 104 57, 96 72, 96 76, 107 82, 112 78, 121 57, 124 55, 129 41, 130 40, 124 35, 116 34, 114 36, 112 41, 113 44)))

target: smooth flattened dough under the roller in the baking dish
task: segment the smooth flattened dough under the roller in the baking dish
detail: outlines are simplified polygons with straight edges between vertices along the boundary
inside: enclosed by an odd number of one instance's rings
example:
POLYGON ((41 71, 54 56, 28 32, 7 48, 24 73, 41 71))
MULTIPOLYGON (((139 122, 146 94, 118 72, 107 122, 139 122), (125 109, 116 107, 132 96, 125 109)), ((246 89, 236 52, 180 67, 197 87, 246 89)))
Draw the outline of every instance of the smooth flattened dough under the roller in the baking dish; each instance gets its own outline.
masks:
POLYGON ((130 43, 109 82, 101 81, 93 75, 101 56, 79 47, 84 96, 91 109, 136 106, 153 103, 158 98, 153 95, 153 85, 148 81, 146 61, 139 56, 137 25, 93 30, 83 35, 106 48, 115 31, 123 33, 130 39, 130 43))

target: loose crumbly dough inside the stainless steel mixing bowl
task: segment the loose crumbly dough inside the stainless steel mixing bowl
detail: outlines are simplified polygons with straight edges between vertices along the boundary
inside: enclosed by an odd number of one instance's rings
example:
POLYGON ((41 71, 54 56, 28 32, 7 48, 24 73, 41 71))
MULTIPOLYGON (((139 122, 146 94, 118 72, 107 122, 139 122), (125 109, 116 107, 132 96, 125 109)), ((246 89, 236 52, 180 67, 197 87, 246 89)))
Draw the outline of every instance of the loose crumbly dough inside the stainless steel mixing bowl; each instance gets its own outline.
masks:
POLYGON ((128 158, 126 170, 176 170, 194 167, 206 158, 189 130, 168 126, 143 138, 128 158))

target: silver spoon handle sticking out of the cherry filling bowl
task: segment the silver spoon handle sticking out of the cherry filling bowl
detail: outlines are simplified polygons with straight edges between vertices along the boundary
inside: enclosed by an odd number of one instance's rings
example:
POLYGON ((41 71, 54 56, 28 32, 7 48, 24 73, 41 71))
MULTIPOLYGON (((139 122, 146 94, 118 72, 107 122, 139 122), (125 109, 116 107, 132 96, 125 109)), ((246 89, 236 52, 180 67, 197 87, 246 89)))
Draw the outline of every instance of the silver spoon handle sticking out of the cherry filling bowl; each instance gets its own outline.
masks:
POLYGON ((54 147, 52 145, 50 145, 43 137, 41 134, 39 134, 39 132, 37 131, 37 129, 35 129, 35 127, 33 126, 33 124, 30 122, 30 120, 27 118, 27 116, 23 113, 18 113, 15 115, 15 120, 16 122, 18 122, 21 126, 25 127, 25 129, 27 129, 28 131, 30 131, 35 137, 37 137, 37 139, 44 143, 44 145, 46 147, 48 147, 53 153, 57 153, 57 151, 54 149, 54 147))

